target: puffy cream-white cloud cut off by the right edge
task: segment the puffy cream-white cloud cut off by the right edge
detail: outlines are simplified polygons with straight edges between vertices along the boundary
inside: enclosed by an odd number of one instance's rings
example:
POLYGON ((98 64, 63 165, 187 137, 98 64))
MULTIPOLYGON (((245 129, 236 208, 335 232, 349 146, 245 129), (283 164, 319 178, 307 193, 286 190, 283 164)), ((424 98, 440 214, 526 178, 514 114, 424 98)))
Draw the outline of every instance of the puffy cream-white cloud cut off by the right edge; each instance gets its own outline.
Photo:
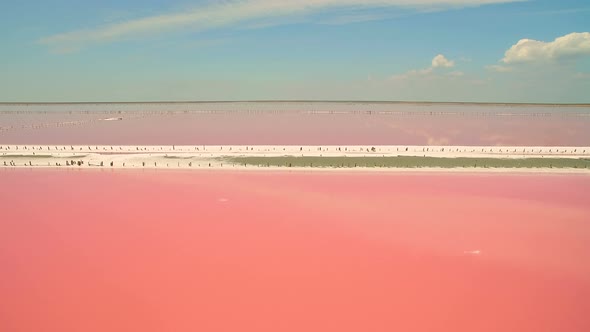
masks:
POLYGON ((502 62, 552 62, 580 56, 590 56, 590 32, 570 33, 552 42, 521 39, 506 51, 502 62))

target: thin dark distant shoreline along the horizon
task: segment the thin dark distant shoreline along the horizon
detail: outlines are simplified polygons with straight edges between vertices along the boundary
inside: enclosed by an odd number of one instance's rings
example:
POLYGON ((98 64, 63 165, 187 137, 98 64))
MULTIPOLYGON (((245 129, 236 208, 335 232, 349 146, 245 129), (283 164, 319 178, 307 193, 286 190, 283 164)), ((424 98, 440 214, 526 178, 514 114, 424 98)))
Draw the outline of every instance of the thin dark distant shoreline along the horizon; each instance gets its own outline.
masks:
POLYGON ((391 105, 474 105, 474 106, 541 106, 541 107, 590 107, 590 103, 501 103, 501 102, 437 102, 437 101, 370 101, 370 100, 227 100, 227 101, 125 101, 125 102, 0 102, 0 105, 141 105, 141 104, 297 104, 297 103, 356 103, 356 104, 391 104, 391 105))

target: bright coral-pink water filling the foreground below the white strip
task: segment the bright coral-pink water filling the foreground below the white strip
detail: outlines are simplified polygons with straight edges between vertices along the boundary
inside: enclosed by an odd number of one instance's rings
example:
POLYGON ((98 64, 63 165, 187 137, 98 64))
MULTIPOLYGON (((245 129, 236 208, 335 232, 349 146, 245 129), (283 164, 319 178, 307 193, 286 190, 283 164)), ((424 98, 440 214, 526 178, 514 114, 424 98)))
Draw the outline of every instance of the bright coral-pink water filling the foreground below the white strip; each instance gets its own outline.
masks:
POLYGON ((0 331, 590 331, 587 176, 0 183, 0 331))

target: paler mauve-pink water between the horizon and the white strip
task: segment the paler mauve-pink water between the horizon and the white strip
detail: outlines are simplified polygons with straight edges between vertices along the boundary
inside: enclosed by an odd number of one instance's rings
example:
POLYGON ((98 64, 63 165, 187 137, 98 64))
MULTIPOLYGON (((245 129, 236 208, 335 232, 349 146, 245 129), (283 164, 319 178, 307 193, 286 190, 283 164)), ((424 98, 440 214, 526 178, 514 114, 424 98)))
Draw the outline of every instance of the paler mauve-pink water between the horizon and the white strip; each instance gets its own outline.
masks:
POLYGON ((0 112, 1 144, 587 146, 590 142, 590 107, 221 103, 0 105, 2 110, 6 113, 0 112), (215 112, 202 113, 209 109, 215 112), (122 120, 101 120, 111 117, 122 120))

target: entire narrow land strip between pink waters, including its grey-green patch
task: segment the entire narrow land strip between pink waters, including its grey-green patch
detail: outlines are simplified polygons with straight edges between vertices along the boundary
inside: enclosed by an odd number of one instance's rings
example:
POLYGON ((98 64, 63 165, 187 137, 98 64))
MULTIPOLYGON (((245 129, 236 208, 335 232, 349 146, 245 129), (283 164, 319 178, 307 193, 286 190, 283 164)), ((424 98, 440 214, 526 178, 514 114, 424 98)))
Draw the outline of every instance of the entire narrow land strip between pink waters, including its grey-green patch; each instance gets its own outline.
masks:
POLYGON ((0 167, 577 172, 590 147, 2 145, 0 167))

